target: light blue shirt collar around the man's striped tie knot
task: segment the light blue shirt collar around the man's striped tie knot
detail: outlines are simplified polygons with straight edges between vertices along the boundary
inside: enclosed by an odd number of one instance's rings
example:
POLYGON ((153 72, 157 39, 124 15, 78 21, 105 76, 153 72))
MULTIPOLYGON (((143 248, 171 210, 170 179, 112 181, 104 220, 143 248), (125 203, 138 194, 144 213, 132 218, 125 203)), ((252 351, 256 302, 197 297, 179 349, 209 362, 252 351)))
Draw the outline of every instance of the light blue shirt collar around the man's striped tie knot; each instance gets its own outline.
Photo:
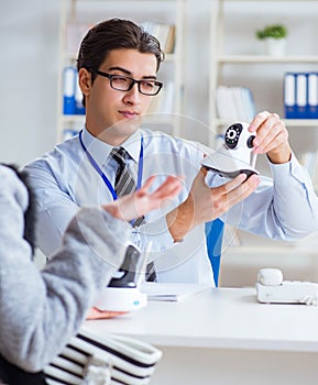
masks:
MULTIPOLYGON (((89 133, 86 128, 83 129, 83 143, 88 152, 92 155, 95 162, 99 165, 99 167, 102 167, 107 163, 109 154, 113 148, 112 145, 102 142, 98 138, 91 135, 91 133, 89 133)), ((139 163, 140 143, 141 131, 139 129, 121 144, 121 147, 128 152, 128 154, 135 163, 139 163)))

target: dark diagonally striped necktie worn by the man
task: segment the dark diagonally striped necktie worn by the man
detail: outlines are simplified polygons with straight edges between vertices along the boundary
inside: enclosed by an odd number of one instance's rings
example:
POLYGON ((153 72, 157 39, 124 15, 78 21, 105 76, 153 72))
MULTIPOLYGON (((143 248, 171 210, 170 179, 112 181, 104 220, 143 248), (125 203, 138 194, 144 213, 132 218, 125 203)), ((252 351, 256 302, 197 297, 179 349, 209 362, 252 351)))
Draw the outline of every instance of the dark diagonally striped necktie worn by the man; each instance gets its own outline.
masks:
MULTIPOLYGON (((118 198, 135 190, 134 179, 125 162, 127 155, 128 153, 123 147, 112 148, 110 153, 110 156, 112 156, 114 161, 118 163, 118 168, 116 172, 116 179, 114 179, 114 191, 118 198)), ((133 227, 138 228, 144 223, 145 223, 144 217, 140 217, 134 221, 133 227)), ((155 273, 155 267, 153 262, 149 263, 146 266, 145 280, 150 280, 150 282, 156 280, 156 273, 155 273)))

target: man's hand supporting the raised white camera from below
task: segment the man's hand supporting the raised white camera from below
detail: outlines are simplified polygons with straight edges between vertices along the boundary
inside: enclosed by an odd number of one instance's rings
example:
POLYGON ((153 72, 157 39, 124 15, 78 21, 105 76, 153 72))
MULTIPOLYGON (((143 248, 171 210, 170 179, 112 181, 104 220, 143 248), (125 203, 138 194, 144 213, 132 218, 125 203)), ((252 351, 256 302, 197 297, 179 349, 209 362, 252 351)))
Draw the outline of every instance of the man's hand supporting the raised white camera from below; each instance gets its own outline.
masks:
POLYGON ((197 224, 220 217, 251 195, 260 184, 259 176, 252 175, 246 179, 245 174, 240 174, 222 186, 210 188, 205 182, 206 175, 206 168, 201 167, 188 198, 166 216, 175 242, 182 241, 197 224))

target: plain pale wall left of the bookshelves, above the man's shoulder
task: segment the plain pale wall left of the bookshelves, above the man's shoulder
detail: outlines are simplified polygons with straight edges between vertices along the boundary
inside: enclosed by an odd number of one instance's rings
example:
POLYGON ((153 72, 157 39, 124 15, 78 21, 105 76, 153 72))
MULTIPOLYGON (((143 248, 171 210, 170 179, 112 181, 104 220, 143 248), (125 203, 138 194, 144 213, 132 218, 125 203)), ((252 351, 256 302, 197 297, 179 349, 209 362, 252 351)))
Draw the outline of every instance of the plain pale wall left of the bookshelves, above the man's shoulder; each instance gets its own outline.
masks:
POLYGON ((1 1, 1 162, 22 165, 54 144, 57 4, 1 1))

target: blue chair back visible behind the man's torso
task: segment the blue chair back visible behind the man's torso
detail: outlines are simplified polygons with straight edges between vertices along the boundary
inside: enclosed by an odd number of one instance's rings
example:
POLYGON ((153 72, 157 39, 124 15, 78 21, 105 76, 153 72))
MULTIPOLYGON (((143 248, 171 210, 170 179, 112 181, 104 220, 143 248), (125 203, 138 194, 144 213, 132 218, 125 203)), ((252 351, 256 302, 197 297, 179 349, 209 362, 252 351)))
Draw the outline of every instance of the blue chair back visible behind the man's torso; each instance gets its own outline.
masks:
POLYGON ((223 232, 224 222, 220 219, 215 219, 206 223, 208 256, 212 265, 216 287, 219 285, 223 232))

